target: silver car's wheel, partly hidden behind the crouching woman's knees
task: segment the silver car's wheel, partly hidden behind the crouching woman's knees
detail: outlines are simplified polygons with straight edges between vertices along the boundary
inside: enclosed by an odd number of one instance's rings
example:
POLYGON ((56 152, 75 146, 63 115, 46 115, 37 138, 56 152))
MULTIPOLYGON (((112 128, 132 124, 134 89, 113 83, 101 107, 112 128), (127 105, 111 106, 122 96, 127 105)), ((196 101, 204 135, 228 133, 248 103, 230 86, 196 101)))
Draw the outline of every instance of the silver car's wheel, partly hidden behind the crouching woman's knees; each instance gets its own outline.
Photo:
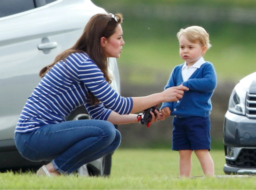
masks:
MULTIPOLYGON (((91 119, 84 106, 80 106, 73 110, 66 121, 72 120, 88 120, 91 119)), ((117 126, 115 126, 117 128, 117 126)), ((77 170, 78 175, 82 176, 109 176, 111 172, 112 154, 108 154, 98 160, 83 165, 77 170)))

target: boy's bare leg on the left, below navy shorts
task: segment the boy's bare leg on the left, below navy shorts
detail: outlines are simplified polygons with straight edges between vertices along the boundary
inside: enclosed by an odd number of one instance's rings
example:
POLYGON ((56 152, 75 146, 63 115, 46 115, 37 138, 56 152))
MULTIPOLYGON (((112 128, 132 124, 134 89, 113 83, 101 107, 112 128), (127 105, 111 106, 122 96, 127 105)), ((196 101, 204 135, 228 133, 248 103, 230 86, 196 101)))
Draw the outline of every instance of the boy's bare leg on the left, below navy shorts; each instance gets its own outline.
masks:
POLYGON ((190 177, 192 169, 192 150, 179 150, 180 160, 179 160, 179 172, 180 178, 190 177))

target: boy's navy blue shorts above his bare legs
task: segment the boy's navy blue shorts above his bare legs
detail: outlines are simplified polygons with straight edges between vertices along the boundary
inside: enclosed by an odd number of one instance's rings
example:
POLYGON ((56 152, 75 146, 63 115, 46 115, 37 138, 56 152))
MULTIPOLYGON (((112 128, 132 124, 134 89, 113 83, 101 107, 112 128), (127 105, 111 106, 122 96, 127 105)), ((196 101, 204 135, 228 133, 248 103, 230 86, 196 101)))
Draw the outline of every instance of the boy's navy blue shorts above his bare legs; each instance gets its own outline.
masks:
POLYGON ((210 117, 174 117, 172 150, 205 150, 211 146, 210 117))

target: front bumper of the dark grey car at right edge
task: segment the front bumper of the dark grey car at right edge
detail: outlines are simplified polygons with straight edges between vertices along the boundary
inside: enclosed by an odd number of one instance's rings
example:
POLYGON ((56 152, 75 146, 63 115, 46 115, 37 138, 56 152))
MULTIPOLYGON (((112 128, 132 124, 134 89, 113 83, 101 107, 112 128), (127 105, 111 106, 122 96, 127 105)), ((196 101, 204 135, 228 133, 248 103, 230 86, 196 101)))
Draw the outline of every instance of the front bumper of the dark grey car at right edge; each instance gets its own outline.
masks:
POLYGON ((256 120, 225 114, 223 134, 225 174, 256 174, 256 120))

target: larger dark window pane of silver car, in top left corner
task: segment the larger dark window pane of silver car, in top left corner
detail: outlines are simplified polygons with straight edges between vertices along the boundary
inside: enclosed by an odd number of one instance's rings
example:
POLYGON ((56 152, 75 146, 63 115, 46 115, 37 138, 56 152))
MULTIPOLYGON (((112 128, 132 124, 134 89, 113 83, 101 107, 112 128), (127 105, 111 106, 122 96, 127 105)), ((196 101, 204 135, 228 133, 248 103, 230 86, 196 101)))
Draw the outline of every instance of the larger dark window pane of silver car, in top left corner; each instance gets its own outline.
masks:
POLYGON ((0 17, 21 13, 35 8, 34 0, 1 0, 0 17))

